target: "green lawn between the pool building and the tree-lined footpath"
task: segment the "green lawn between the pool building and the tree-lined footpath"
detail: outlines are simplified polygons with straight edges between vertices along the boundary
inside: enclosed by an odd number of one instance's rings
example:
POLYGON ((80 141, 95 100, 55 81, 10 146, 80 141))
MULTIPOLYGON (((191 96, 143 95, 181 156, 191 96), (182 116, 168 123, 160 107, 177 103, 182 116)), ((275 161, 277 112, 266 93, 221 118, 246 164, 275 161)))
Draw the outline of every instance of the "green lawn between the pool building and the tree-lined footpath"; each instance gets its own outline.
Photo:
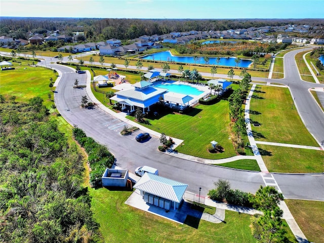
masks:
MULTIPOLYGON (((134 120, 133 116, 127 116, 134 120)), ((226 158, 236 155, 229 139, 228 102, 220 100, 214 105, 197 105, 189 114, 169 113, 151 117, 149 129, 184 140, 178 152, 203 158, 226 158), (210 153, 211 141, 217 141, 225 150, 210 153)))

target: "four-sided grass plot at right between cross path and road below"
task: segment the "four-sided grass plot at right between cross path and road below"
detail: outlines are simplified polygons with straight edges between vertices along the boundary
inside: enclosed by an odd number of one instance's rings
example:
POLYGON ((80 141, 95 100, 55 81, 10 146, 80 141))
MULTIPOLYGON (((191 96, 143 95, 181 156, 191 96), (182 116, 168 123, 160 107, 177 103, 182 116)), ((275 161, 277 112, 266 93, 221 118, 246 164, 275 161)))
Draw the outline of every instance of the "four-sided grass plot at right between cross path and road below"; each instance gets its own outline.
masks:
POLYGON ((258 144, 269 172, 322 173, 324 151, 258 144))

